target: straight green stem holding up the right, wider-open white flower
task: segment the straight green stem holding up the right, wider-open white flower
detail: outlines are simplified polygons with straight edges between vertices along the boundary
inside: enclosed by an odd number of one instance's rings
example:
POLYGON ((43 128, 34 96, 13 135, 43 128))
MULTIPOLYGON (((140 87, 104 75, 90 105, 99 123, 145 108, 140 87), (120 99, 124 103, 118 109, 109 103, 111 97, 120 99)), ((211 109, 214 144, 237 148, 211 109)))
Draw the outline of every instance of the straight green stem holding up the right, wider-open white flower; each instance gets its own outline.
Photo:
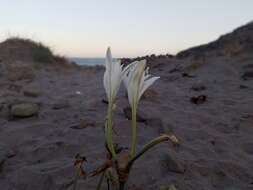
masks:
POLYGON ((136 141, 137 141, 137 127, 136 127, 136 112, 137 112, 137 106, 133 103, 132 105, 132 134, 131 134, 131 151, 130 155, 131 158, 133 158, 136 154, 136 141))

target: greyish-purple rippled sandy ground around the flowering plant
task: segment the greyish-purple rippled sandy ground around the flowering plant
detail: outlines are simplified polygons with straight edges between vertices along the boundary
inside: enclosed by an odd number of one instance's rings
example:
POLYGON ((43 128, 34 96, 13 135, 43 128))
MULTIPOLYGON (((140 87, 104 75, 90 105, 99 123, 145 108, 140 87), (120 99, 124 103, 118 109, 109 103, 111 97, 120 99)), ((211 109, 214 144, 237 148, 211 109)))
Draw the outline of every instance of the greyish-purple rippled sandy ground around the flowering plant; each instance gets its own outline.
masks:
MULTIPOLYGON (((138 123, 138 148, 167 131, 172 131, 181 145, 163 143, 137 161, 129 189, 157 190, 170 184, 179 190, 253 189, 253 80, 241 79, 244 66, 251 63, 252 59, 243 63, 208 59, 190 72, 192 77, 182 76, 186 66, 180 60, 171 59, 151 69, 161 79, 151 88, 157 95, 139 105, 147 121, 138 123), (171 72, 176 65, 182 69, 171 72), (192 90, 194 85, 205 89, 192 90), (191 97, 198 95, 205 95, 207 101, 192 103, 191 97)), ((40 107, 38 116, 0 118, 0 143, 9 151, 0 170, 0 189, 70 190, 77 153, 87 157, 87 171, 102 163, 107 109, 102 102, 102 78, 103 70, 97 69, 41 70, 31 82, 0 79, 2 103, 25 101, 40 107), (10 88, 13 84, 19 90, 10 88), (39 89, 39 96, 24 96, 27 88, 39 89)), ((122 88, 114 135, 115 141, 128 147, 126 106, 122 88)), ((78 189, 95 189, 97 181, 79 179, 78 189)))

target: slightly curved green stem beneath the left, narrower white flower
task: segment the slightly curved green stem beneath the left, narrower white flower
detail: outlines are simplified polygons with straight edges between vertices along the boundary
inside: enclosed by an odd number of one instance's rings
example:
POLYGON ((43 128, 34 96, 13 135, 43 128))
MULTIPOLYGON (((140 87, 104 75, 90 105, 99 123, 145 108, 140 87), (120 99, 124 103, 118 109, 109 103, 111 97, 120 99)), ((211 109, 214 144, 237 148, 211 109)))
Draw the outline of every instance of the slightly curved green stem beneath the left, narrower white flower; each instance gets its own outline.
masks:
POLYGON ((112 137, 112 133, 113 133, 113 130, 112 130, 112 125, 113 125, 113 122, 112 122, 112 112, 113 112, 112 106, 113 106, 113 104, 109 103, 108 112, 107 112, 107 123, 106 123, 106 129, 105 129, 105 137, 106 137, 106 142, 107 142, 108 148, 109 148, 109 150, 112 154, 112 157, 113 157, 114 160, 116 160, 116 152, 115 152, 115 149, 114 149, 114 146, 113 146, 113 137, 112 137))

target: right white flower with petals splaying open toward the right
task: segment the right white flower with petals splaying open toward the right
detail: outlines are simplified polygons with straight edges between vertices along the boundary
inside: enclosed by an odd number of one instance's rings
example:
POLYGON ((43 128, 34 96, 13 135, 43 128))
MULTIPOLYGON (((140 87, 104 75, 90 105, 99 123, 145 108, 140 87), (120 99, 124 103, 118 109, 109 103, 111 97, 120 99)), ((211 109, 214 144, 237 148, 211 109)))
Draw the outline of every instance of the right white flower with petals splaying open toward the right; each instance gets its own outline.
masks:
POLYGON ((146 60, 131 63, 129 70, 124 74, 124 84, 127 88, 128 100, 131 106, 137 106, 141 96, 157 79, 148 74, 146 60))

